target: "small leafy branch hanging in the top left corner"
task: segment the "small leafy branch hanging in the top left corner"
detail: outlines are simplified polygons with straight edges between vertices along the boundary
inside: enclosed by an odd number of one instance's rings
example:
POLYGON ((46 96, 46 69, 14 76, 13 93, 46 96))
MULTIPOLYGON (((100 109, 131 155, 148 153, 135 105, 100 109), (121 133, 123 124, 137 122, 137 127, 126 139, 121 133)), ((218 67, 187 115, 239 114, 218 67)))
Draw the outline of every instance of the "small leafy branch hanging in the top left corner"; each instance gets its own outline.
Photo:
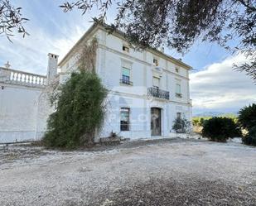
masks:
POLYGON ((22 7, 14 7, 9 0, 0 0, 0 35, 13 36, 13 30, 22 33, 23 37, 28 35, 23 24, 28 21, 22 17, 22 7))

